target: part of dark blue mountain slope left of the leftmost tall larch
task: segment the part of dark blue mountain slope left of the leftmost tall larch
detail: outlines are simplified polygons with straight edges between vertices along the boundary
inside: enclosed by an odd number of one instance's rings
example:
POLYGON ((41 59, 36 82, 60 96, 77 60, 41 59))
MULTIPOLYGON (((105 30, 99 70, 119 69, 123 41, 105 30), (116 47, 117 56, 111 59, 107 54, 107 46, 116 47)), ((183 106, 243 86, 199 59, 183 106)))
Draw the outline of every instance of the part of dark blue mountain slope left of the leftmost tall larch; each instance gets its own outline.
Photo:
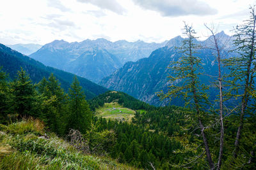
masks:
POLYGON ((100 81, 100 84, 125 92, 141 101, 156 104, 159 99, 154 93, 167 86, 167 75, 170 74, 167 66, 173 52, 163 47, 152 52, 148 58, 127 62, 111 76, 100 81))

